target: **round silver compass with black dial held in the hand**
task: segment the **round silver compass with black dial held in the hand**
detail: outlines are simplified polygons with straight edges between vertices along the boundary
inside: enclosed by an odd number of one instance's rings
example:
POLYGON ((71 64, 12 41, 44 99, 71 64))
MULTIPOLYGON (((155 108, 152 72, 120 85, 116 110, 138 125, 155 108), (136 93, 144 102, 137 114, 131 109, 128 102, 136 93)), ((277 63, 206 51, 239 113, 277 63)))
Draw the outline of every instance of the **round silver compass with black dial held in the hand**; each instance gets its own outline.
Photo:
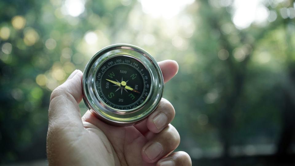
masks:
POLYGON ((83 74, 83 100, 100 120, 128 126, 139 123, 158 106, 163 75, 155 59, 127 44, 97 52, 83 74))

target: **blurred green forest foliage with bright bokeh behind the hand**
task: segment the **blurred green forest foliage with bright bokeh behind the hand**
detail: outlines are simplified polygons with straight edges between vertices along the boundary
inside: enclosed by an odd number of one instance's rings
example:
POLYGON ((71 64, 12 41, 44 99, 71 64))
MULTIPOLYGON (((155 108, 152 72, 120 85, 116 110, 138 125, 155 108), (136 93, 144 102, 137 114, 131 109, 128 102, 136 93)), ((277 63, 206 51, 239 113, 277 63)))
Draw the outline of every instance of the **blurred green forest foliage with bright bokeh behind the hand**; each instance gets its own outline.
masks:
POLYGON ((231 0, 183 1, 176 14, 176 2, 161 3, 0 1, 0 161, 45 158, 51 91, 116 43, 179 63, 164 89, 178 150, 225 159, 293 153, 294 2, 262 1, 268 15, 249 27, 235 22, 231 0))

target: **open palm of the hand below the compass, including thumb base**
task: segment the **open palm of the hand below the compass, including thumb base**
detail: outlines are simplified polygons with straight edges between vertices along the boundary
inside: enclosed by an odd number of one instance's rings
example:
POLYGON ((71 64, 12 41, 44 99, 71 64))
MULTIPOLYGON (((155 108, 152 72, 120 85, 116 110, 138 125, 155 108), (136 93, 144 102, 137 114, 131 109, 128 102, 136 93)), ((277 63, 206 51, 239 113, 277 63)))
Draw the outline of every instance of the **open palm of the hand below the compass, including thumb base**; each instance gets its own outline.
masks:
POLYGON ((83 128, 56 126, 51 127, 54 130, 48 130, 49 163, 60 165, 59 161, 63 160, 67 165, 155 165, 142 160, 141 150, 148 140, 135 127, 104 124, 90 111, 82 121, 83 128), (92 124, 91 121, 95 122, 92 124), (57 135, 59 139, 56 139, 57 135), (71 155, 65 158, 65 154, 71 155))

